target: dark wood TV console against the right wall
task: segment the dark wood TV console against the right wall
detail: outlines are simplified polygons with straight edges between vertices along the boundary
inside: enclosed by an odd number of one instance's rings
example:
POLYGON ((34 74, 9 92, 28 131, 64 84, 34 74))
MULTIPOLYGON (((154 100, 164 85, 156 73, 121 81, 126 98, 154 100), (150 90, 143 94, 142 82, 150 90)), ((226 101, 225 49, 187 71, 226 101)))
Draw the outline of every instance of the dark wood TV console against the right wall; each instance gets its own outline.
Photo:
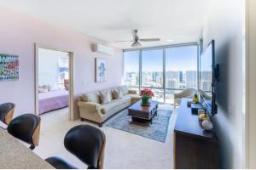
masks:
POLYGON ((173 136, 174 168, 218 169, 218 138, 201 127, 198 116, 187 106, 188 101, 191 99, 182 99, 177 110, 173 136))

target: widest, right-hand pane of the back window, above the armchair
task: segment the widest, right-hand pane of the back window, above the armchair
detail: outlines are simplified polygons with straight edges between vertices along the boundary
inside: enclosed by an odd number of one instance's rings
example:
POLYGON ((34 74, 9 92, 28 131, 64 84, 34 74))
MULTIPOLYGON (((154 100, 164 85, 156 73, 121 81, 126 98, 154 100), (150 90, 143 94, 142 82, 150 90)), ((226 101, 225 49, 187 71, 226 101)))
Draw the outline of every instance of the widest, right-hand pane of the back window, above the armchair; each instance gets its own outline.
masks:
POLYGON ((166 103, 186 88, 197 88, 197 46, 166 48, 166 103))

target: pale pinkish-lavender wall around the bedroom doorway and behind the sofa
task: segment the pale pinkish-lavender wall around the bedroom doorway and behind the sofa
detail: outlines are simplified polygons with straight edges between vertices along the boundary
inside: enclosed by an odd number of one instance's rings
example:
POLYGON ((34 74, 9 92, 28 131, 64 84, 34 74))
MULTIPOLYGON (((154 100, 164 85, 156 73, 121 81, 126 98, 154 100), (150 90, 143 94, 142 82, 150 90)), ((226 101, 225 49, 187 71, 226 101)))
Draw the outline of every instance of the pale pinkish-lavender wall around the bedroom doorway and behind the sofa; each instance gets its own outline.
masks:
MULTIPOLYGON (((49 48, 67 49, 73 52, 75 97, 85 92, 121 84, 123 59, 121 49, 113 48, 113 55, 94 53, 91 44, 100 41, 78 32, 49 25, 1 5, 0 20, 0 53, 16 54, 20 57, 20 79, 15 82, 0 82, 0 103, 15 103, 15 116, 35 112, 35 42, 49 48), (95 82, 96 57, 108 60, 107 82, 95 82)), ((77 118, 79 111, 76 101, 74 107, 77 118)))

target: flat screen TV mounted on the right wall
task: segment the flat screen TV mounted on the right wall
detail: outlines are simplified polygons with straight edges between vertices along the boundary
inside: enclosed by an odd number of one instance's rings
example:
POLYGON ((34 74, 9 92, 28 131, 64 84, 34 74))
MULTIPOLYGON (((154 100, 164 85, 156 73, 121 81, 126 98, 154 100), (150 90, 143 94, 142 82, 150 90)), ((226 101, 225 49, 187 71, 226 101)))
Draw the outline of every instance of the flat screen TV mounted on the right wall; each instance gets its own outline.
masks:
POLYGON ((199 61, 199 94, 201 104, 207 114, 213 116, 217 113, 215 86, 218 79, 218 65, 215 65, 215 42, 212 40, 204 48, 199 61))

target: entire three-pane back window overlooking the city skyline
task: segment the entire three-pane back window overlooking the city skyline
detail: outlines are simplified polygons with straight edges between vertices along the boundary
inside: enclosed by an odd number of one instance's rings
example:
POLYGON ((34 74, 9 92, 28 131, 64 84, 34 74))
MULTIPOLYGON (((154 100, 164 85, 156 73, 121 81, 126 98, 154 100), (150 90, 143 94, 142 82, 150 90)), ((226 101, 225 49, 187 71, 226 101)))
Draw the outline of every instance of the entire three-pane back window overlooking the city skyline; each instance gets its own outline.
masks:
POLYGON ((173 94, 197 88, 197 45, 125 51, 124 84, 149 88, 154 99, 173 104, 173 94))

